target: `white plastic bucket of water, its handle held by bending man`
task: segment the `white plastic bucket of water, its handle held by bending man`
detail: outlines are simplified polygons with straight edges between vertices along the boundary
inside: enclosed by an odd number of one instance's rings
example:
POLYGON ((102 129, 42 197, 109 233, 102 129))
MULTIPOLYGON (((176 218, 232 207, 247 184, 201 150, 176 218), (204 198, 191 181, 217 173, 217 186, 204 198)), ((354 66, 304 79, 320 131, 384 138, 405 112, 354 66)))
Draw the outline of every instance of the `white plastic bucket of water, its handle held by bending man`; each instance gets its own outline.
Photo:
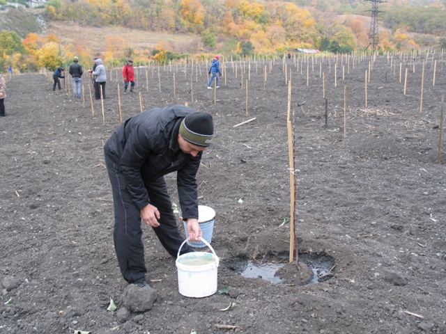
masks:
POLYGON ((217 292, 217 268, 219 260, 214 249, 200 238, 212 251, 192 252, 180 255, 185 241, 178 249, 176 268, 178 269, 178 292, 186 297, 202 298, 217 292))

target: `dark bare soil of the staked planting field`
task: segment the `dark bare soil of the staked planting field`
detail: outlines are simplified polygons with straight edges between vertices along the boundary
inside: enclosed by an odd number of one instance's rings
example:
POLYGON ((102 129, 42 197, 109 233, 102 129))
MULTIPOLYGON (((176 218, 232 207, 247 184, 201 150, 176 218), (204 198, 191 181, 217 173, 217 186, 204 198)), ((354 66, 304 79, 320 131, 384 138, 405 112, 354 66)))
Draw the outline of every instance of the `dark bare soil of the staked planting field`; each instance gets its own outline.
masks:
MULTIPOLYGON (((367 107, 364 74, 371 59, 356 58, 355 67, 351 59, 347 67, 345 58, 337 58, 335 86, 336 59, 324 58, 327 129, 322 58, 309 58, 308 65, 286 60, 293 82, 299 252, 334 261, 320 283, 309 285, 298 281, 295 262, 279 271, 282 284, 236 271, 248 261, 289 258, 290 224, 282 225, 290 217, 282 60, 253 61, 250 77, 248 63, 242 63, 243 78, 240 63, 226 62, 215 102, 214 90, 206 89, 204 63, 198 72, 197 64, 194 72, 190 65, 159 72, 151 67, 148 91, 140 69, 137 93, 125 94, 121 69, 113 70, 105 124, 100 101, 93 101, 92 116, 86 78, 83 104, 70 90, 52 92, 43 74, 13 77, 7 83, 7 116, 0 119, 0 332, 446 333, 445 154, 438 164, 446 69, 440 55, 433 56, 435 86, 429 54, 421 111, 425 54, 415 60, 393 56, 396 70, 390 58, 378 56, 367 83, 367 107), (201 205, 217 212, 212 239, 220 257, 217 285, 229 287, 229 294, 203 299, 179 294, 176 264, 146 227, 147 279, 157 300, 146 312, 125 312, 128 285, 114 253, 112 193, 102 153, 120 124, 116 76, 123 120, 141 110, 139 92, 144 109, 188 102, 214 116, 215 141, 203 154, 199 196, 201 205), (107 310, 110 299, 115 312, 107 310), (221 311, 230 303, 236 303, 233 310, 221 311)), ((175 175, 167 182, 178 203, 175 175)), ((180 221, 178 226, 184 232, 180 221)))

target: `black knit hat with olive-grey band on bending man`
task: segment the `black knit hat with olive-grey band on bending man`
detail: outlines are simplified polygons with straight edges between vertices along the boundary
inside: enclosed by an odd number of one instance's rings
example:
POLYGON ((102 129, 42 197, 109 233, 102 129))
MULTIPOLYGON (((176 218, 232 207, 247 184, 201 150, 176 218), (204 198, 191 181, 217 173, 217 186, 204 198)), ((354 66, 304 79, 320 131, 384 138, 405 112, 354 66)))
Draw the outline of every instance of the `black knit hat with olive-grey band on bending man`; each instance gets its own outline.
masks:
POLYGON ((190 113, 181 121, 179 132, 189 143, 207 148, 214 135, 212 115, 198 111, 190 113))

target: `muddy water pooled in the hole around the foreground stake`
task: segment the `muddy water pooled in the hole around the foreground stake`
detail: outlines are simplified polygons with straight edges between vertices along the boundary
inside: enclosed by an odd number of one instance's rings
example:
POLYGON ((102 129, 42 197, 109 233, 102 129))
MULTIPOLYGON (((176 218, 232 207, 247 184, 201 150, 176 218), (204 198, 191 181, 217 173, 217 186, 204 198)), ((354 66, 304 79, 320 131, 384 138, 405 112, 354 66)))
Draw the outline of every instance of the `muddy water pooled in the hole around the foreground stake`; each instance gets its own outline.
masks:
MULTIPOLYGON (((313 272, 313 277, 303 285, 325 282, 332 277, 330 273, 334 266, 333 257, 302 253, 299 255, 299 261, 307 264, 307 267, 313 272)), ((274 259, 263 263, 247 261, 241 266, 242 269, 236 269, 236 271, 245 278, 261 278, 269 280, 271 283, 281 284, 284 283, 284 280, 275 276, 275 273, 286 263, 288 263, 287 260, 283 259, 274 259)), ((236 267, 240 268, 240 266, 236 267)))

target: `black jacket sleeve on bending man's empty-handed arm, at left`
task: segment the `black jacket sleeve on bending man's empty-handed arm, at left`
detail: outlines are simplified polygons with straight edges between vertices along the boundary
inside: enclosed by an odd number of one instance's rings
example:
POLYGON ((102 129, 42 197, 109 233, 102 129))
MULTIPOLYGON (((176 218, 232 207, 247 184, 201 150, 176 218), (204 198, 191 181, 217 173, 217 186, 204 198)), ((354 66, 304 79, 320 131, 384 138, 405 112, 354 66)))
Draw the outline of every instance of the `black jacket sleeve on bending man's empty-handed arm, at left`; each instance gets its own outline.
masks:
POLYGON ((121 168, 123 169, 127 190, 138 209, 142 209, 150 203, 141 177, 141 167, 149 154, 151 154, 149 139, 144 134, 142 126, 138 126, 137 129, 130 132, 121 156, 121 168))

